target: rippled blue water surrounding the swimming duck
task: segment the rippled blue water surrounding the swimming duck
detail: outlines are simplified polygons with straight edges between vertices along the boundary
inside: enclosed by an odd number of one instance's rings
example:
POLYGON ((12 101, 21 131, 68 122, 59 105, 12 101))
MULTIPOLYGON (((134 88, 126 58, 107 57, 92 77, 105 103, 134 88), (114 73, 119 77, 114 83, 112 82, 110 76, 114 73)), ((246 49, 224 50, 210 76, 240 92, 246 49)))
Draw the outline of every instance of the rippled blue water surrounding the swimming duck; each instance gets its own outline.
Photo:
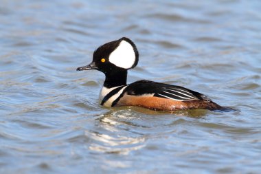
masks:
POLYGON ((0 173, 260 173, 261 1, 0 1, 0 173), (101 107, 76 72, 127 36, 128 83, 181 85, 240 111, 101 107))

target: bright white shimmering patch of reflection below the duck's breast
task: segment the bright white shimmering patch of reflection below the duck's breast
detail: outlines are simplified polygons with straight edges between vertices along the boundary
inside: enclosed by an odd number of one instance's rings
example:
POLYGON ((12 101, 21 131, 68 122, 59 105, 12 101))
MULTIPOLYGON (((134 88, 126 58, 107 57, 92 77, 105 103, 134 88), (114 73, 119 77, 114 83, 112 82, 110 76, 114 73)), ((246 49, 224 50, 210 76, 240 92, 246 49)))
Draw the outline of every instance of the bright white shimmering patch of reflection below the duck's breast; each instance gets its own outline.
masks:
POLYGON ((129 131, 128 124, 122 120, 131 119, 131 114, 119 114, 119 111, 109 111, 95 118, 98 120, 99 131, 85 131, 85 135, 91 139, 89 149, 97 152, 128 155, 131 151, 143 148, 146 141, 145 135, 126 136, 129 131))

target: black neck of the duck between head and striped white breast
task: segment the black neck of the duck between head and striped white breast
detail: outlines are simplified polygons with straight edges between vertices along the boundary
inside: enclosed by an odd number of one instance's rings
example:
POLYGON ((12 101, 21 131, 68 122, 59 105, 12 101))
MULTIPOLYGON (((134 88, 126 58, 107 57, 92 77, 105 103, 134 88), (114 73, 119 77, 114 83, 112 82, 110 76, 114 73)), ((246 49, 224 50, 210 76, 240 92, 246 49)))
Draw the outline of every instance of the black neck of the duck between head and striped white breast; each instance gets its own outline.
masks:
POLYGON ((127 70, 126 69, 117 69, 117 71, 105 73, 105 81, 104 87, 111 88, 111 87, 118 87, 127 84, 127 70))

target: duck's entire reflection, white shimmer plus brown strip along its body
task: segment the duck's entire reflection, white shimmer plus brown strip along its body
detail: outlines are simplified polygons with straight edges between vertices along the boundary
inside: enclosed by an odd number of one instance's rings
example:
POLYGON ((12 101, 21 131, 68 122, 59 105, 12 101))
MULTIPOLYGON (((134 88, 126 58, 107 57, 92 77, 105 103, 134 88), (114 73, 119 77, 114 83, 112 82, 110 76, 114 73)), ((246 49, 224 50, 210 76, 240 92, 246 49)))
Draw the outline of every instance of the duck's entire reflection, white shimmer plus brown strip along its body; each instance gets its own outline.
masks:
POLYGON ((122 107, 95 117, 99 129, 85 131, 85 135, 91 139, 89 144, 91 151, 128 155, 146 146, 146 139, 153 134, 150 129, 158 127, 163 130, 175 124, 183 124, 183 119, 179 119, 180 116, 203 118, 208 112, 205 109, 197 109, 166 113, 140 107, 122 107), (166 116, 172 119, 162 121, 161 119, 166 119, 166 116), (173 117, 177 119, 173 120, 173 117), (148 124, 140 124, 146 119, 148 124))

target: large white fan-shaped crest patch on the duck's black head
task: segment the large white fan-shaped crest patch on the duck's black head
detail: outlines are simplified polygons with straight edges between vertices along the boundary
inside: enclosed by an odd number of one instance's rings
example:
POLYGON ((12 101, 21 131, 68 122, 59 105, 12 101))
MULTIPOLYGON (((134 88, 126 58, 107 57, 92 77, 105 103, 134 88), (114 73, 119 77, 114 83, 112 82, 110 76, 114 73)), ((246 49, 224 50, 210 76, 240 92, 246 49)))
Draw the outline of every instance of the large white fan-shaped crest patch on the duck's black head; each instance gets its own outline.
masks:
POLYGON ((136 56, 133 46, 126 41, 122 41, 109 56, 109 61, 111 63, 117 67, 122 67, 125 69, 131 68, 135 63, 135 59, 136 56))

